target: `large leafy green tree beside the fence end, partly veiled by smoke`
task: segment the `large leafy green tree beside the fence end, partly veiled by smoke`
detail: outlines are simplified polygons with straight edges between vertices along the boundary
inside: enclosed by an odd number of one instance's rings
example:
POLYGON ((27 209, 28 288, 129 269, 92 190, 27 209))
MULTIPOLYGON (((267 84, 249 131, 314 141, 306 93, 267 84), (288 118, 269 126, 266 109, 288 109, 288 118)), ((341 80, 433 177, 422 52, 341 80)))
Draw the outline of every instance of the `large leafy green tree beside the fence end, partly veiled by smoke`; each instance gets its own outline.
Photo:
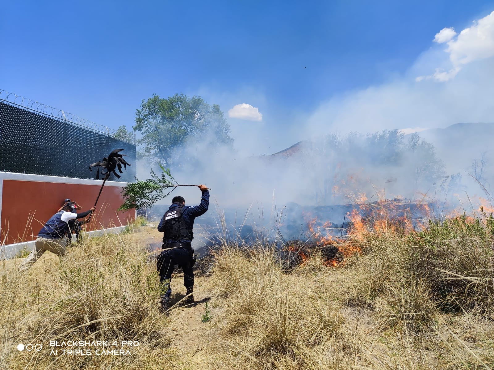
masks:
MULTIPOLYGON (((177 149, 185 143, 200 139, 214 147, 233 142, 219 105, 211 106, 200 96, 182 93, 167 99, 153 95, 142 100, 133 129, 142 134, 139 155, 168 168, 176 164, 179 154, 183 155, 177 149)), ((185 158, 180 156, 180 160, 185 158)))

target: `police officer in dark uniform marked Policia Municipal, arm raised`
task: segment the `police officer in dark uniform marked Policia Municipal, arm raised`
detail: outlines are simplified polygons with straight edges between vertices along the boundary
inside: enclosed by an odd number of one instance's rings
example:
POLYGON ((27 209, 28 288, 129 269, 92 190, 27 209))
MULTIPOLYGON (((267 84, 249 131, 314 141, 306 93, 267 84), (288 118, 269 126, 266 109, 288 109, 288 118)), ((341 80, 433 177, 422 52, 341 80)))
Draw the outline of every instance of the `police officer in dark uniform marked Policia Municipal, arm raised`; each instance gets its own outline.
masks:
POLYGON ((184 272, 184 285, 187 288, 186 303, 194 303, 194 249, 191 242, 194 219, 204 215, 209 207, 209 191, 205 185, 198 186, 203 196, 198 206, 186 206, 185 199, 175 196, 172 204, 158 225, 158 231, 163 232, 163 251, 158 256, 156 267, 160 281, 165 282, 167 288, 161 297, 161 308, 165 312, 171 295, 170 280, 175 265, 180 265, 184 272))

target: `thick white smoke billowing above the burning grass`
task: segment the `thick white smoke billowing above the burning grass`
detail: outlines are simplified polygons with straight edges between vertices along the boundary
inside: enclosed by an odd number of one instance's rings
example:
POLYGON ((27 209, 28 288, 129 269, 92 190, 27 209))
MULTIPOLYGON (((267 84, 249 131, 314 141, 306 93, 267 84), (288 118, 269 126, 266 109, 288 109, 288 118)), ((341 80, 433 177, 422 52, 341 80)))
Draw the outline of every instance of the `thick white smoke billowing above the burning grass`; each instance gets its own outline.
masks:
MULTIPOLYGON (((465 147, 462 140, 483 133, 465 128, 458 141, 450 143, 450 150, 441 141, 441 132, 430 129, 458 122, 494 122, 494 12, 460 32, 444 26, 445 29, 431 35, 431 47, 417 56, 405 74, 381 85, 332 96, 315 111, 298 114, 285 126, 276 122, 269 109, 262 109, 269 104, 269 98, 262 93, 247 89, 226 95, 203 90, 200 93, 206 101, 219 103, 223 111, 246 104, 259 107, 255 108, 259 114, 256 121, 230 120, 235 139, 233 150, 211 147, 206 144, 207 139, 203 140, 204 144, 190 142, 184 146, 182 150, 194 154, 198 162, 193 167, 172 170, 173 176, 180 183, 208 185, 212 188, 212 200, 221 207, 238 209, 240 215, 250 205, 255 210, 270 209, 274 202, 278 207, 289 202, 341 204, 350 202, 350 195, 358 192, 367 192, 369 198, 372 193, 382 191, 389 196, 404 197, 423 193, 434 196, 438 191, 449 191, 449 196, 459 191, 483 195, 464 170, 472 171, 472 161, 480 159, 484 152, 489 154, 490 148, 485 147, 486 141, 480 147, 465 147), (270 127, 273 124, 276 131, 270 127), (423 164, 432 154, 421 157, 423 152, 415 155, 404 149, 397 162, 393 158, 395 151, 390 148, 389 163, 381 157, 375 162, 373 152, 369 151, 372 147, 366 147, 365 135, 355 136, 353 141, 345 139, 352 132, 365 134, 393 129, 407 134, 420 131, 423 138, 439 146, 436 154, 445 163, 445 172, 440 174, 438 170, 438 178, 443 180, 430 179, 429 183, 417 180, 420 176, 417 171, 423 170, 423 164), (334 142, 324 138, 331 133, 338 133, 344 148, 332 150, 328 146, 334 142), (300 140, 309 141, 300 145, 291 157, 259 156, 266 153, 267 143, 271 143, 272 153, 289 146, 288 142, 294 144, 300 140), (444 175, 456 173, 461 173, 464 185, 453 189, 451 178, 444 175), (335 185, 347 189, 334 195, 335 185)), ((488 131, 489 135, 493 133, 488 131)), ((403 139, 405 146, 409 140, 410 136, 403 139)), ((382 155, 388 150, 380 149, 382 155)), ((143 174, 139 177, 145 178, 149 167, 141 166, 140 172, 143 174)), ((197 203, 200 198, 197 188, 179 188, 172 194, 184 196, 187 204, 197 203)))

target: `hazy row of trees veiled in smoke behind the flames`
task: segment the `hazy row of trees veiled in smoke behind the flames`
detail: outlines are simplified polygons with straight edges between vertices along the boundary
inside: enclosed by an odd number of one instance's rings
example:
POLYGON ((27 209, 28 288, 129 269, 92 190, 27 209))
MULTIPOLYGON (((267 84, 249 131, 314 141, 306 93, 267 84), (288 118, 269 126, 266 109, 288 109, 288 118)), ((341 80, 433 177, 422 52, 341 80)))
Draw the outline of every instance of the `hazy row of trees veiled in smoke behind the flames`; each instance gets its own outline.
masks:
POLYGON ((434 145, 417 133, 329 134, 310 146, 305 166, 312 162, 317 170, 314 183, 318 204, 331 203, 331 198, 341 195, 339 188, 368 193, 383 190, 388 192, 386 196, 409 197, 416 192, 447 189, 461 179, 459 174, 446 176, 445 164, 434 145))

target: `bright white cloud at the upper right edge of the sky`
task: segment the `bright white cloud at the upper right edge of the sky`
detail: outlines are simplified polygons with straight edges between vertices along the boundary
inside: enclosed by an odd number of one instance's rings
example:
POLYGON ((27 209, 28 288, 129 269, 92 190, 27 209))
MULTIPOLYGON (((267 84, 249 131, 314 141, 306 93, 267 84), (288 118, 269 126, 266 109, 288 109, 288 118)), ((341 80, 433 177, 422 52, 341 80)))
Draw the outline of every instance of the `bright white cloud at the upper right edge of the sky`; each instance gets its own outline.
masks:
POLYGON ((448 45, 445 51, 449 54, 450 67, 448 70, 438 68, 429 76, 419 76, 416 82, 430 79, 446 82, 453 79, 466 64, 494 56, 494 11, 473 23, 459 35, 453 28, 443 28, 436 34, 436 43, 448 45))

